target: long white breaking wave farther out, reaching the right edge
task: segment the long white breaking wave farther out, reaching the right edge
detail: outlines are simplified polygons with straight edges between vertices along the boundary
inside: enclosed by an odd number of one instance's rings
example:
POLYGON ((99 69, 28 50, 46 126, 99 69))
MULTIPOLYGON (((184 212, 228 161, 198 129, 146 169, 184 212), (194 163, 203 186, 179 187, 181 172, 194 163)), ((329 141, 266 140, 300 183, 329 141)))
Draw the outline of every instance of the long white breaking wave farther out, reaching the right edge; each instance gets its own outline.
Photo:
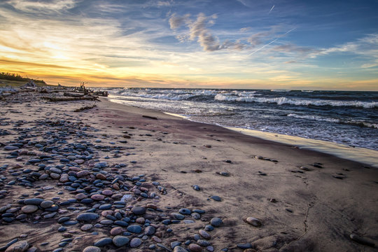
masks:
POLYGON ((378 108, 378 102, 359 102, 359 101, 332 101, 332 100, 310 100, 310 99, 288 99, 286 97, 236 97, 235 95, 216 94, 215 100, 221 102, 260 102, 275 103, 278 105, 290 104, 296 106, 354 106, 365 109, 378 108))

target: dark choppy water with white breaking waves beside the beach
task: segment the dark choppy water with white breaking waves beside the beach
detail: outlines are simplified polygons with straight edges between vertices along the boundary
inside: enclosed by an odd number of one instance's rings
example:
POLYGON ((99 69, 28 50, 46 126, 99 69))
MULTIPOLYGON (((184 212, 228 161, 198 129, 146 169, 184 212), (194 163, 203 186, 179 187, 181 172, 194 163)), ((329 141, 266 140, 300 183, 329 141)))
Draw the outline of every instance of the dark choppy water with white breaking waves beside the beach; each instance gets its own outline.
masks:
POLYGON ((378 92, 107 89, 112 102, 226 127, 378 150, 378 92))

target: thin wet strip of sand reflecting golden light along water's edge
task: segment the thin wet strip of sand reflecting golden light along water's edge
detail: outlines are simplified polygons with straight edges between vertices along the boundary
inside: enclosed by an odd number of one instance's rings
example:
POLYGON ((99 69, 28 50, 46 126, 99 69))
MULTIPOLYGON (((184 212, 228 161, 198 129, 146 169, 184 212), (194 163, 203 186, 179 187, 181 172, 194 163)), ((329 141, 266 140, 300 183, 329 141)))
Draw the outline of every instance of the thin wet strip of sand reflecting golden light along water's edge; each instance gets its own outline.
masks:
MULTIPOLYGON (((107 98, 107 99, 109 100, 109 102, 112 102, 111 99, 116 100, 114 98, 107 98)), ((113 102, 113 103, 122 104, 118 102, 113 102)), ((130 106, 127 104, 123 104, 123 105, 130 106)), ((138 107, 138 108, 141 108, 141 107, 138 107)), ((178 118, 190 120, 188 116, 181 116, 176 113, 169 113, 165 111, 160 111, 160 112, 166 113, 167 115, 170 115, 170 116, 176 116, 178 118)), ((193 121, 195 123, 202 123, 195 120, 190 120, 190 121, 193 121)), ((209 123, 204 123, 204 124, 211 125, 209 123)), ((274 133, 274 132, 263 132, 260 130, 251 130, 251 129, 246 129, 243 127, 229 127, 229 126, 223 126, 223 125, 218 125, 218 124, 215 124, 215 125, 219 127, 223 127, 225 129, 239 132, 241 134, 246 134, 251 137, 257 137, 260 139, 265 139, 267 141, 273 141, 275 143, 289 144, 291 146, 297 146, 298 148, 303 148, 303 149, 307 149, 311 151, 317 151, 319 153, 334 155, 337 158, 343 158, 346 160, 360 162, 367 166, 378 168, 378 151, 372 150, 370 148, 353 147, 353 146, 348 146, 345 144, 339 144, 339 143, 330 142, 330 141, 323 141, 323 140, 318 140, 318 139, 306 139, 304 137, 296 137, 296 136, 290 136, 290 135, 279 134, 279 133, 274 133)))

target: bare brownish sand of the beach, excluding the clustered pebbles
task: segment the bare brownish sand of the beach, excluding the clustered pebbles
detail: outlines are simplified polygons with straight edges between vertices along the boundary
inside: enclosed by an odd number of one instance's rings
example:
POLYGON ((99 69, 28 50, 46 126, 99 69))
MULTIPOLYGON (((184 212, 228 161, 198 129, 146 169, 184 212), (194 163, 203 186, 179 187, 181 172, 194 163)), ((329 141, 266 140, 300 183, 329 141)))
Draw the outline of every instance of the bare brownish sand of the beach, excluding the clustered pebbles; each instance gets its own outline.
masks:
MULTIPOLYGON (((6 191, 2 193, 4 197, 0 199, 0 207, 10 204, 10 209, 14 209, 14 218, 22 214, 20 207, 24 204, 18 202, 21 199, 41 197, 52 200, 59 197, 53 200, 59 206, 60 202, 76 197, 77 193, 65 190, 58 179, 50 177, 36 179, 32 187, 20 186, 20 181, 15 185, 7 185, 16 179, 10 174, 10 169, 21 171, 19 176, 22 176, 23 169, 38 170, 37 165, 40 163, 25 165, 31 157, 22 155, 18 160, 6 158, 11 151, 5 151, 4 146, 17 141, 20 132, 18 128, 28 127, 36 127, 34 131, 31 130, 29 140, 41 141, 43 144, 43 140, 46 141, 45 133, 49 129, 41 120, 69 120, 71 125, 83 123, 80 129, 86 126, 85 132, 88 135, 80 135, 76 129, 76 134, 66 137, 67 143, 85 140, 96 145, 94 140, 101 139, 100 144, 108 146, 108 149, 95 149, 93 160, 78 165, 78 170, 91 171, 96 163, 94 159, 98 159, 99 162, 109 164, 109 167, 102 169, 109 172, 106 174, 108 179, 113 179, 116 172, 129 178, 145 174, 143 178, 146 182, 141 186, 148 187, 149 196, 155 192, 158 197, 140 197, 139 192, 134 190, 131 194, 135 200, 127 202, 127 206, 146 206, 151 203, 162 209, 148 211, 152 217, 145 217, 151 218, 151 223, 156 225, 155 235, 162 240, 159 244, 167 248, 171 248, 172 241, 180 241, 183 248, 188 248, 184 243, 188 240, 195 243, 195 235, 199 234, 199 230, 203 230, 211 218, 218 217, 223 224, 207 231, 211 235, 208 241, 214 251, 223 248, 228 248, 228 251, 243 251, 237 248, 238 244, 251 244, 252 249, 249 251, 378 251, 377 246, 363 245, 350 238, 351 234, 356 234, 377 243, 376 168, 249 137, 216 125, 194 123, 158 111, 114 104, 106 99, 97 102, 94 109, 75 113, 74 109, 93 102, 45 102, 39 96, 41 94, 15 94, 7 97, 8 102, 1 102, 0 129, 11 134, 1 136, 0 141, 3 144, 0 147, 0 167, 8 165, 0 169, 0 179, 6 178, 0 182, 0 190, 6 191), (14 102, 22 100, 23 102, 14 102), (120 142, 125 140, 127 144, 120 142), (116 146, 120 146, 120 153, 116 155, 118 158, 114 157, 112 151, 109 152, 109 148, 116 146), (104 159, 106 155, 109 159, 104 159), (120 163, 127 166, 119 169, 114 167, 120 163), (316 165, 321 168, 314 167, 316 163, 321 164, 316 165), (20 167, 14 168, 15 165, 20 167), (165 188, 162 189, 163 194, 159 192, 161 188, 154 186, 152 181, 158 181, 165 188), (193 185, 199 186, 200 190, 194 190, 193 185), (53 188, 41 190, 45 186, 53 188), (40 194, 35 196, 36 192, 40 194), (57 192, 63 193, 58 195, 57 192), (22 197, 22 194, 28 196, 22 197), (220 197, 221 201, 212 200, 210 197, 214 195, 220 197), (206 213, 201 214, 198 220, 186 216, 180 223, 162 224, 164 218, 174 219, 171 214, 181 208, 202 209, 206 213), (250 225, 244 221, 246 217, 258 218, 262 225, 250 225)), ((18 151, 24 149, 40 154, 33 145, 25 144, 18 151)), ((60 164, 59 159, 52 161, 53 165, 60 164)), ((45 172, 42 170, 40 173, 45 172)), ((90 172, 87 178, 94 181, 94 174, 96 172, 90 172)), ((128 182, 131 189, 135 182, 128 182)), ((105 188, 113 190, 114 194, 130 194, 124 189, 116 190, 111 185, 105 185, 101 190, 105 188)), ((109 200, 113 201, 110 197, 109 200)), ((82 231, 80 227, 84 223, 78 223, 66 225, 65 232, 58 232, 61 224, 57 220, 60 217, 71 216, 71 220, 76 220, 76 216, 90 209, 92 204, 86 205, 86 209, 78 209, 83 204, 71 205, 75 206, 76 211, 66 209, 67 206, 59 206, 57 214, 47 219, 41 218, 41 209, 27 214, 23 221, 7 223, 2 219, 0 247, 20 235, 27 235, 18 241, 27 241, 30 247, 37 248, 38 251, 53 251, 59 248, 58 244, 64 237, 71 236, 73 240, 62 247, 63 251, 83 251, 102 237, 114 237, 109 233, 111 225, 82 231), (97 232, 98 235, 92 232, 97 232), (43 242, 49 244, 41 246, 43 242)), ((126 209, 124 208, 126 214, 133 218, 130 209, 126 209)), ((96 209, 95 212, 100 214, 102 211, 96 209)), ((95 225, 102 219, 104 217, 92 224, 95 225)), ((133 237, 137 235, 129 237, 130 240, 133 237)), ((129 245, 117 248, 110 244, 102 246, 102 251, 153 251, 148 249, 152 244, 155 244, 154 250, 166 250, 156 246, 158 243, 151 236, 142 237, 143 235, 140 237, 143 242, 137 248, 130 248, 129 245)), ((207 251, 206 246, 203 251, 207 251)))

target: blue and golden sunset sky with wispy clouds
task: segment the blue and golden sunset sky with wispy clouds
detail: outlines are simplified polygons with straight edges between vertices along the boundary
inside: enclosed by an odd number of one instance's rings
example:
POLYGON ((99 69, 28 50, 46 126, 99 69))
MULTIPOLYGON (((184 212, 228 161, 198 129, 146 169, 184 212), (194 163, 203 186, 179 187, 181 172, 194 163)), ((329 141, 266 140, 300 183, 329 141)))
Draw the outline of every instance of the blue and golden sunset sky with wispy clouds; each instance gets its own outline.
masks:
POLYGON ((0 71, 52 85, 378 91, 377 13, 377 0, 1 0, 0 71))

